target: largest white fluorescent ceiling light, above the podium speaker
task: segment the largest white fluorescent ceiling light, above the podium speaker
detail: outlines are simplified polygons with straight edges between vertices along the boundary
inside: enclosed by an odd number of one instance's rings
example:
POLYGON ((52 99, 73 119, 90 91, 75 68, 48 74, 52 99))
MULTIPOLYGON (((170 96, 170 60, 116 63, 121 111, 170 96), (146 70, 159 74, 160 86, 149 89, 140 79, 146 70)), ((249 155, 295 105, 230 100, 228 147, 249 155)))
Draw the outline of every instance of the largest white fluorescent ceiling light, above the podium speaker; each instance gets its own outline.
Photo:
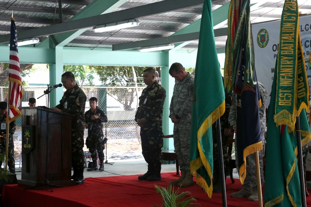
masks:
POLYGON ((98 25, 93 27, 94 32, 106 32, 111 30, 120 30, 129 27, 135 27, 139 25, 138 19, 129 19, 125 21, 116 21, 104 25, 98 25))

